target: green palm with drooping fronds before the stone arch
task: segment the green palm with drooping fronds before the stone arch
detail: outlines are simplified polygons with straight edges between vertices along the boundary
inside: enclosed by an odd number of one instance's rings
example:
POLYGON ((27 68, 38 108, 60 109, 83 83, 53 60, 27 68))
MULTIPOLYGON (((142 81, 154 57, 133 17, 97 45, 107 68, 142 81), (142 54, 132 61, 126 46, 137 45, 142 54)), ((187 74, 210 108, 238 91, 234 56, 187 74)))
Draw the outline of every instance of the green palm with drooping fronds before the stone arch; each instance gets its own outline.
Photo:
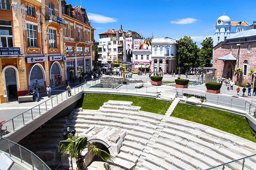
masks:
POLYGON ((70 158, 76 159, 77 169, 84 169, 84 158, 82 151, 87 148, 91 156, 98 156, 105 162, 111 162, 113 156, 108 152, 97 148, 95 145, 90 143, 87 137, 76 137, 69 133, 68 139, 59 142, 59 151, 62 151, 62 155, 69 155, 70 158))

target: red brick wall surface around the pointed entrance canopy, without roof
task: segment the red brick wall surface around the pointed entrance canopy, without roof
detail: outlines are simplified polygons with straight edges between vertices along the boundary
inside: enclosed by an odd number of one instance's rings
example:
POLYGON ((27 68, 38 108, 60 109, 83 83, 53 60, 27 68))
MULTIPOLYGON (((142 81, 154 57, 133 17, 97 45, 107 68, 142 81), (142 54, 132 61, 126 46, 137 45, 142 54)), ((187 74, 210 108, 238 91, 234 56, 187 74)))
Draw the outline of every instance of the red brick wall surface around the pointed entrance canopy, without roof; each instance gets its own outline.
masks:
MULTIPOLYGON (((234 75, 234 70, 238 67, 238 61, 222 61, 218 58, 223 57, 228 54, 232 54, 235 58, 238 56, 238 43, 226 44, 219 43, 213 48, 213 67, 217 69, 217 78, 226 77, 228 78, 228 67, 232 69, 233 80, 237 81, 237 76, 234 75), (230 48, 232 46, 232 52, 230 48)), ((239 80, 243 83, 251 83, 251 76, 248 76, 251 70, 256 70, 256 42, 245 42, 241 44, 239 50, 239 67, 244 69, 244 64, 247 64, 247 75, 239 76, 239 80), (248 53, 248 46, 251 45, 250 53, 248 53)))

